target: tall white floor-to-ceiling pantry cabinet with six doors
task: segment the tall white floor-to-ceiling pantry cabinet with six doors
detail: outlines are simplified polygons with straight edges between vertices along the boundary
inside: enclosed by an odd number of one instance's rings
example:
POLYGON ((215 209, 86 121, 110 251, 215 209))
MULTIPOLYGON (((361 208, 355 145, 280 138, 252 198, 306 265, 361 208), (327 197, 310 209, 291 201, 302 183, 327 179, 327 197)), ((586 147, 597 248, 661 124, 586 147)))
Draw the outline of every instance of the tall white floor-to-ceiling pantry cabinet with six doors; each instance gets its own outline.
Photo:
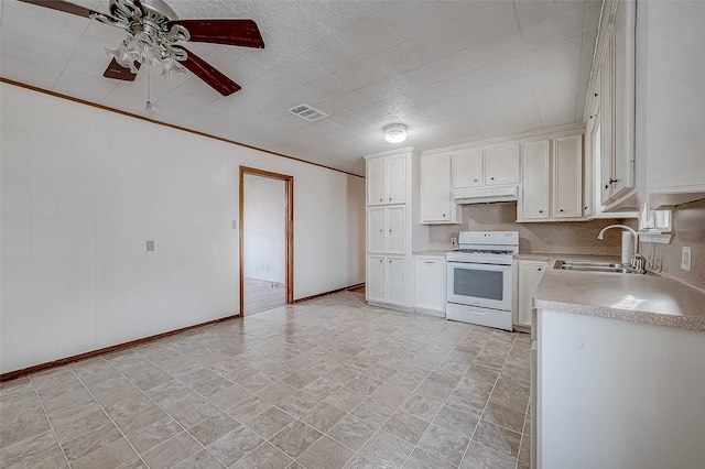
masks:
POLYGON ((412 252, 429 249, 421 225, 420 154, 413 148, 365 156, 368 303, 412 308, 412 252))

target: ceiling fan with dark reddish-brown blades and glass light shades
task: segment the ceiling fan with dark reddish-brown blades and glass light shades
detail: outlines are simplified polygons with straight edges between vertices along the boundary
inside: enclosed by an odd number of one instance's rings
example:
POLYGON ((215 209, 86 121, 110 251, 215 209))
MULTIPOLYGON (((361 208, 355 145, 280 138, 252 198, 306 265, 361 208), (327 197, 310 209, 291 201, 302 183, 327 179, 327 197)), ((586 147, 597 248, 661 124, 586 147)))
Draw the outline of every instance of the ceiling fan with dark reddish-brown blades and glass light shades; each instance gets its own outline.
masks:
POLYGON ((162 0, 110 0, 110 14, 64 0, 20 0, 53 10, 89 18, 121 28, 128 37, 115 50, 106 48, 112 61, 104 73, 107 78, 132 81, 141 64, 161 65, 162 75, 191 70, 223 96, 241 87, 213 65, 186 50, 181 42, 205 42, 264 48, 253 20, 180 20, 162 0))

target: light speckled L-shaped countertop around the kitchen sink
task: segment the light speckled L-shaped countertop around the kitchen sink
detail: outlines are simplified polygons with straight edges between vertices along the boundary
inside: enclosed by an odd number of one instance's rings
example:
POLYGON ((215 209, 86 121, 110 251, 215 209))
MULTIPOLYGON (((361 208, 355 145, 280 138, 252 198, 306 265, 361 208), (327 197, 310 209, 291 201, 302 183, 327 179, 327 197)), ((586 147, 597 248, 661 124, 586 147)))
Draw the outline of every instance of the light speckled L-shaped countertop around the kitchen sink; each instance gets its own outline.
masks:
POLYGON ((616 257, 532 253, 518 259, 550 260, 534 298, 539 309, 705 331, 705 292, 673 279, 553 269, 556 259, 616 257))

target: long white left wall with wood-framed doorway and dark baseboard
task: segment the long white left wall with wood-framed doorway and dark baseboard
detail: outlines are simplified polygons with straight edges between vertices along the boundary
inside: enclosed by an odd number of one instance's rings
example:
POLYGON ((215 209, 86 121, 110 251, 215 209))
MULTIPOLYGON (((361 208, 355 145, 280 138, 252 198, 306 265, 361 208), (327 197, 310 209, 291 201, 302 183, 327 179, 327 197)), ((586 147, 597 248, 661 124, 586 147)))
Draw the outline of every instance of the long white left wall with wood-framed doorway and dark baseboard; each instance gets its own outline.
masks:
POLYGON ((0 97, 0 372, 237 314, 239 165, 294 177, 294 298, 364 282, 362 178, 7 84, 0 97))

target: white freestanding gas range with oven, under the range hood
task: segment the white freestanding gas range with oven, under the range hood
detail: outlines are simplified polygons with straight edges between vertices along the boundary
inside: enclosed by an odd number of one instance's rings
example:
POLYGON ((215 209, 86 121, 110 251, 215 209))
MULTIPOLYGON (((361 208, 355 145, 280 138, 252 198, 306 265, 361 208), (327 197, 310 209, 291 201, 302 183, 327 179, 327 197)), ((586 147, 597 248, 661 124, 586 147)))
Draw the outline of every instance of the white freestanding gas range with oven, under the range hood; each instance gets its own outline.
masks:
POLYGON ((459 248, 446 254, 446 318, 513 329, 512 257, 518 231, 460 231, 459 248))

